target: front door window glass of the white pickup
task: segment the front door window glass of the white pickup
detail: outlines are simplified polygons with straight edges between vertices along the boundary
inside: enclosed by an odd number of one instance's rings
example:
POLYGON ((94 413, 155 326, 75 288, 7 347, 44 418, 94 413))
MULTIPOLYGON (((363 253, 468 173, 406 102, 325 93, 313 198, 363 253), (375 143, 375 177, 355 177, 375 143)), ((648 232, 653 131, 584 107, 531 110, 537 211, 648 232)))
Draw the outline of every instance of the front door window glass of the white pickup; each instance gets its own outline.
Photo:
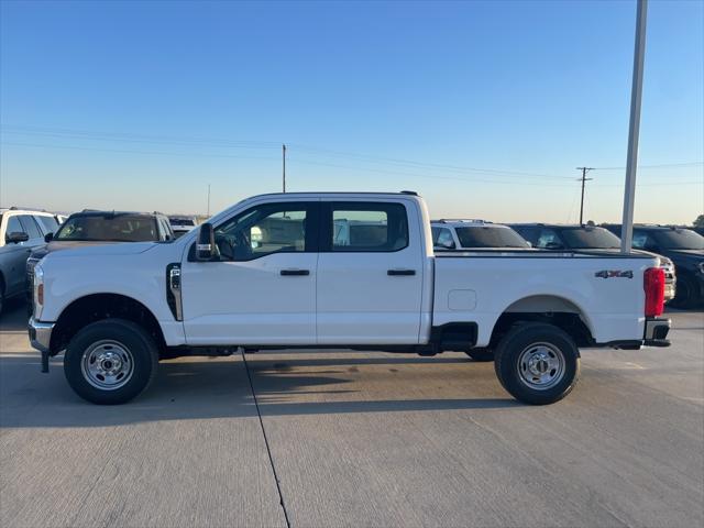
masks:
POLYGON ((301 204, 273 204, 238 215, 215 230, 220 258, 251 261, 306 251, 306 209, 301 204))

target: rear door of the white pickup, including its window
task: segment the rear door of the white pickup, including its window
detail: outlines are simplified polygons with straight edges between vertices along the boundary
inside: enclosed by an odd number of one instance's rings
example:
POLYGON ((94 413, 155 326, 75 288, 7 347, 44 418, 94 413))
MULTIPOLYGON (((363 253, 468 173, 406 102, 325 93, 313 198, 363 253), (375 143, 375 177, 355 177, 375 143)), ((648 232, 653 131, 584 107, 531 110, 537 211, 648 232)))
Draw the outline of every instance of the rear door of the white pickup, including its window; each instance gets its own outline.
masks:
POLYGON ((413 207, 321 204, 318 344, 418 343, 424 249, 413 207))

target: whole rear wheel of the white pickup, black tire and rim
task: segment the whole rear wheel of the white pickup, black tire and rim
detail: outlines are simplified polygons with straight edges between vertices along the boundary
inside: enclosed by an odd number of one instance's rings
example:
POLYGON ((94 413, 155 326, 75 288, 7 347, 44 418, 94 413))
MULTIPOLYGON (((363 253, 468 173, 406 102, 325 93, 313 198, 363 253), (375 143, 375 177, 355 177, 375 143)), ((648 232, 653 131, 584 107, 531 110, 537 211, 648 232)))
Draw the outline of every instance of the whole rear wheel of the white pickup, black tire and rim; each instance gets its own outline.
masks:
POLYGON ((553 404, 576 385, 580 353, 563 330, 529 322, 515 327, 499 341, 494 369, 503 387, 519 402, 553 404))

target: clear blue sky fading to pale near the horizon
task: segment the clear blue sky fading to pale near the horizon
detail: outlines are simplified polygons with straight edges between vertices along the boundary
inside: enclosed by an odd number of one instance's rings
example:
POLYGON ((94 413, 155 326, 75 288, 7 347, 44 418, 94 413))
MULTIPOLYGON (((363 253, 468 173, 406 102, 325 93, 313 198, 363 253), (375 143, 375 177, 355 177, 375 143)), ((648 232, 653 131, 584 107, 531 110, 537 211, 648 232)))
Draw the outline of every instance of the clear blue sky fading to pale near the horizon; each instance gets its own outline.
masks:
MULTIPOLYGON (((620 219, 635 1, 15 2, 2 206, 211 212, 416 189, 433 216, 620 219)), ((704 209, 704 2, 650 1, 636 219, 704 209), (658 167, 653 165, 675 164, 658 167), (689 164, 689 165, 680 165, 689 164)))

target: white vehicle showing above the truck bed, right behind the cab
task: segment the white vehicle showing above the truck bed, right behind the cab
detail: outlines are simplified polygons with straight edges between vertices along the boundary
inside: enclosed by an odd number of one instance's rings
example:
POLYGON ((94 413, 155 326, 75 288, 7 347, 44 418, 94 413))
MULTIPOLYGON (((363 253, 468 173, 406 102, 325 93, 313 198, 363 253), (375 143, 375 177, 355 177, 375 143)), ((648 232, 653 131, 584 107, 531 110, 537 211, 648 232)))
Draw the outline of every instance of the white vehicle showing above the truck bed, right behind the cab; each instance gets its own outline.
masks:
POLYGON ((508 226, 485 220, 433 220, 430 223, 436 250, 510 248, 527 250, 530 243, 508 226))

